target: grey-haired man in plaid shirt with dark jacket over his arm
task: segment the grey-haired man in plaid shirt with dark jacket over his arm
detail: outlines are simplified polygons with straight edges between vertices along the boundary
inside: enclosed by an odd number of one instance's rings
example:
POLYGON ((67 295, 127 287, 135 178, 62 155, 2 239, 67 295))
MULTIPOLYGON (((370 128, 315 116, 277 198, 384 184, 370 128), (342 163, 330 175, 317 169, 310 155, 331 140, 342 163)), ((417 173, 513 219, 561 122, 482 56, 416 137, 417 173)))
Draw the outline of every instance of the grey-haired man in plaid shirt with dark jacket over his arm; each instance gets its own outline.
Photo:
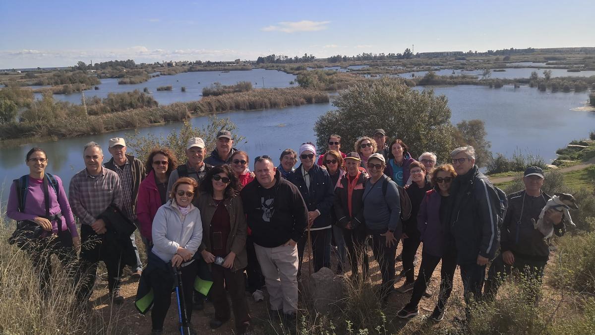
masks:
MULTIPOLYGON (((99 235, 107 232, 105 222, 98 217, 109 204, 116 204, 120 208, 123 204, 120 177, 101 165, 104 153, 99 144, 95 142, 85 144, 83 157, 86 168, 73 176, 68 191, 70 207, 81 222, 82 246, 77 273, 78 280, 84 275, 77 292, 81 302, 89 299, 93 293, 102 241, 99 235)), ((104 259, 104 262, 108 271, 109 296, 114 303, 120 305, 124 302, 124 297, 120 294, 120 274, 123 263, 120 259, 104 259)))

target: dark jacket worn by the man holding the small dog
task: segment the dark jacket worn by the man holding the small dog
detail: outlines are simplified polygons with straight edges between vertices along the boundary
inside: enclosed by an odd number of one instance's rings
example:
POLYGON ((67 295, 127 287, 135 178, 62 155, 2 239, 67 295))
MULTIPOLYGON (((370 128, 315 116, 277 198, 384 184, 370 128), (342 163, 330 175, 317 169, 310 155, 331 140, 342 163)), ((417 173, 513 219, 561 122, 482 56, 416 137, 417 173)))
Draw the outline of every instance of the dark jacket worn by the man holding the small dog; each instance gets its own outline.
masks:
MULTIPOLYGON (((550 198, 543 192, 538 197, 532 197, 524 190, 508 195, 508 209, 502 224, 502 252, 511 251, 528 259, 547 261, 550 255, 547 241, 540 231, 533 228, 531 219, 539 219, 550 198)), ((556 235, 562 236, 565 232, 564 221, 554 225, 556 235)))

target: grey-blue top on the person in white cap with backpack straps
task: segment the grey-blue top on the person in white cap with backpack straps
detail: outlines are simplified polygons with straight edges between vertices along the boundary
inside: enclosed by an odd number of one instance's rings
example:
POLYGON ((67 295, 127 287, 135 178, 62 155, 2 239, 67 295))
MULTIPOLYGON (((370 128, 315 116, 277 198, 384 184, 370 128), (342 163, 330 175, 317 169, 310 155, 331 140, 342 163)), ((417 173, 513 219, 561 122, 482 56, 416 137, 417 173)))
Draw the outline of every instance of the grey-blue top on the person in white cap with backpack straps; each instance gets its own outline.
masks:
POLYGON ((394 181, 387 181, 382 175, 377 182, 366 181, 364 188, 364 219, 366 227, 375 233, 383 234, 387 230, 402 231, 401 202, 399 190, 394 181), (382 185, 387 182, 386 196, 383 196, 382 185))

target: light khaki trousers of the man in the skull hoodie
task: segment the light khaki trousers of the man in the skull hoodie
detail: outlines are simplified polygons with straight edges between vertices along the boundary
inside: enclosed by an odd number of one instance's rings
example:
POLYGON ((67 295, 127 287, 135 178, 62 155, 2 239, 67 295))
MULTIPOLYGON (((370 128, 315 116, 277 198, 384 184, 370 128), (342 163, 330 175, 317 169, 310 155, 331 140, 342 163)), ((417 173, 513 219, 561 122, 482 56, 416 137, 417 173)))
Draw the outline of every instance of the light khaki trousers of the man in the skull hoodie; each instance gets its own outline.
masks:
POLYGON ((273 311, 297 311, 297 246, 261 247, 254 244, 256 258, 267 284, 273 311))

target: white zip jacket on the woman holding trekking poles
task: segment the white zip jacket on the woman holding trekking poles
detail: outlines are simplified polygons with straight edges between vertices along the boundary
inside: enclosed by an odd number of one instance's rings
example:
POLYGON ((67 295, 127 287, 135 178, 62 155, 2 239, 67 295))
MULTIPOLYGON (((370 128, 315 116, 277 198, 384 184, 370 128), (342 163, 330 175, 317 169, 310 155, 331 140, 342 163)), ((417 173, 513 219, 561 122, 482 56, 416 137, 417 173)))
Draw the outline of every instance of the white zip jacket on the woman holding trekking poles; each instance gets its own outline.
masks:
MULTIPOLYGON (((182 222, 180 210, 173 201, 159 207, 153 219, 152 252, 166 263, 176 255, 178 247, 195 254, 202 242, 201 211, 190 204, 190 212, 182 222)), ((191 262, 193 259, 183 266, 191 262)))

